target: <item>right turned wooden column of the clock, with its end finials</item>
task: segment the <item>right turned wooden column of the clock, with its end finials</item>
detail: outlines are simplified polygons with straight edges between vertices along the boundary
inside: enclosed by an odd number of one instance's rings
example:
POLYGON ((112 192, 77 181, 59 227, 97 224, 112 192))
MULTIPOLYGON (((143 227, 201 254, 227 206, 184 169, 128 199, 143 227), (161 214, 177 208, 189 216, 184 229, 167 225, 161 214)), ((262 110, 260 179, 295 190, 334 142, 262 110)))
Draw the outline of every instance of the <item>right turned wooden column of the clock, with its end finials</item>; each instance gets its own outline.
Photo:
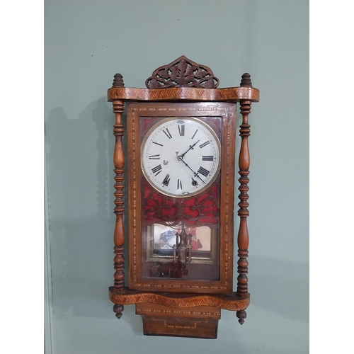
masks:
MULTIPOLYGON (((241 86, 251 86, 251 76, 249 74, 242 75, 241 86)), ((239 212, 240 225, 239 234, 237 236, 237 244, 239 247, 239 261, 237 262, 237 271, 239 276, 237 277, 237 295, 239 297, 249 297, 247 273, 249 273, 249 262, 247 257, 249 256, 249 230, 247 228, 247 217, 249 217, 249 135, 250 127, 249 125, 249 113, 251 113, 251 101, 241 100, 240 110, 242 115, 242 124, 240 125, 240 136, 241 136, 241 149, 239 154, 239 212)), ((239 318, 239 323, 244 324, 244 319, 246 319, 246 311, 236 312, 236 316, 239 318)))

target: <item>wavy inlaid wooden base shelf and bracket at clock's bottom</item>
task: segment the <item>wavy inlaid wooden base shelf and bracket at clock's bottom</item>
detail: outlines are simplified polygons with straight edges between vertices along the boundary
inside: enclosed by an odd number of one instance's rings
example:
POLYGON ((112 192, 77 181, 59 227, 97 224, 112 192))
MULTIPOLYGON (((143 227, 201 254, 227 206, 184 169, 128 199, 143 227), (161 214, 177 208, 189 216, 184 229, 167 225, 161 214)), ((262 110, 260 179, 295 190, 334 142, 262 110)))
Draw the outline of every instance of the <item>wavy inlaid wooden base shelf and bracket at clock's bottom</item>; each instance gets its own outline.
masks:
POLYGON ((190 294, 171 292, 139 292, 125 288, 115 293, 109 288, 110 301, 118 319, 124 305, 135 304, 135 314, 142 316, 144 335, 217 338, 221 309, 236 311, 239 323, 246 318, 247 297, 232 294, 190 294))

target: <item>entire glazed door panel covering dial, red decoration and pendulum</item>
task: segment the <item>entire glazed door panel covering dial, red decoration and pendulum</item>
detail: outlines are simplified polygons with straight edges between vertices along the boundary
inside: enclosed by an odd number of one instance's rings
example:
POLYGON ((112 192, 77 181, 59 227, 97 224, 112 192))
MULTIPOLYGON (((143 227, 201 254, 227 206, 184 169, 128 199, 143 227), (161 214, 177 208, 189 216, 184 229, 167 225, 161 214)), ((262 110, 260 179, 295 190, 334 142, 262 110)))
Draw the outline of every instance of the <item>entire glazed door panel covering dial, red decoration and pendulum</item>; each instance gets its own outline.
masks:
POLYGON ((140 116, 142 278, 219 280, 222 118, 140 116))

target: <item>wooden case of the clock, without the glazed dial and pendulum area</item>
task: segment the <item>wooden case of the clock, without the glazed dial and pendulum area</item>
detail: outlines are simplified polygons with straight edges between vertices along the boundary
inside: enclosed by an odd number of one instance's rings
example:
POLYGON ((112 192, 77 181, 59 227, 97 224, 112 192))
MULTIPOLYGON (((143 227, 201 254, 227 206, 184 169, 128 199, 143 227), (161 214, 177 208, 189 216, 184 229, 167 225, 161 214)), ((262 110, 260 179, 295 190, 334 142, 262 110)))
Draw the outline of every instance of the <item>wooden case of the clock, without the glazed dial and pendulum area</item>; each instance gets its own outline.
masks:
POLYGON ((239 323, 246 318, 249 306, 248 247, 249 232, 249 147, 251 102, 257 102, 259 91, 253 89, 249 74, 244 74, 239 87, 217 89, 219 80, 205 66, 180 57, 159 67, 147 79, 147 89, 125 87, 122 75, 116 74, 108 89, 108 101, 115 113, 115 232, 114 232, 114 285, 109 288, 113 311, 120 319, 125 304, 135 304, 136 314, 143 320, 145 335, 217 338, 217 324, 221 309, 236 312, 239 323), (122 137, 125 127, 122 113, 127 103, 127 156, 122 137), (239 212, 237 236, 239 260, 237 290, 233 292, 234 254, 234 160, 236 133, 236 103, 239 103, 241 149, 239 154, 239 212), (144 177, 140 169, 141 118, 164 117, 220 117, 222 152, 219 179, 219 278, 186 281, 166 278, 146 278, 142 275, 145 262, 142 250, 142 211, 144 177), (129 287, 125 287, 125 183, 123 173, 127 159, 128 171, 128 235, 129 235, 129 287))

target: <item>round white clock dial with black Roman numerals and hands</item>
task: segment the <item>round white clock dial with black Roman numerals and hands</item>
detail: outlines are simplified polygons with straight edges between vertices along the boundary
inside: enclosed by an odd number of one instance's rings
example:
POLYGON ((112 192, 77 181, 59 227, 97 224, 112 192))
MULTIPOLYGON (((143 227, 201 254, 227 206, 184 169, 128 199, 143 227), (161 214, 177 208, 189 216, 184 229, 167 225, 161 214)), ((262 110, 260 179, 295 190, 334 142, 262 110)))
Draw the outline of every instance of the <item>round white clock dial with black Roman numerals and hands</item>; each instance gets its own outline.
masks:
POLYGON ((205 190, 220 169, 220 142, 197 118, 167 118, 142 142, 142 171, 161 193, 188 197, 205 190))

